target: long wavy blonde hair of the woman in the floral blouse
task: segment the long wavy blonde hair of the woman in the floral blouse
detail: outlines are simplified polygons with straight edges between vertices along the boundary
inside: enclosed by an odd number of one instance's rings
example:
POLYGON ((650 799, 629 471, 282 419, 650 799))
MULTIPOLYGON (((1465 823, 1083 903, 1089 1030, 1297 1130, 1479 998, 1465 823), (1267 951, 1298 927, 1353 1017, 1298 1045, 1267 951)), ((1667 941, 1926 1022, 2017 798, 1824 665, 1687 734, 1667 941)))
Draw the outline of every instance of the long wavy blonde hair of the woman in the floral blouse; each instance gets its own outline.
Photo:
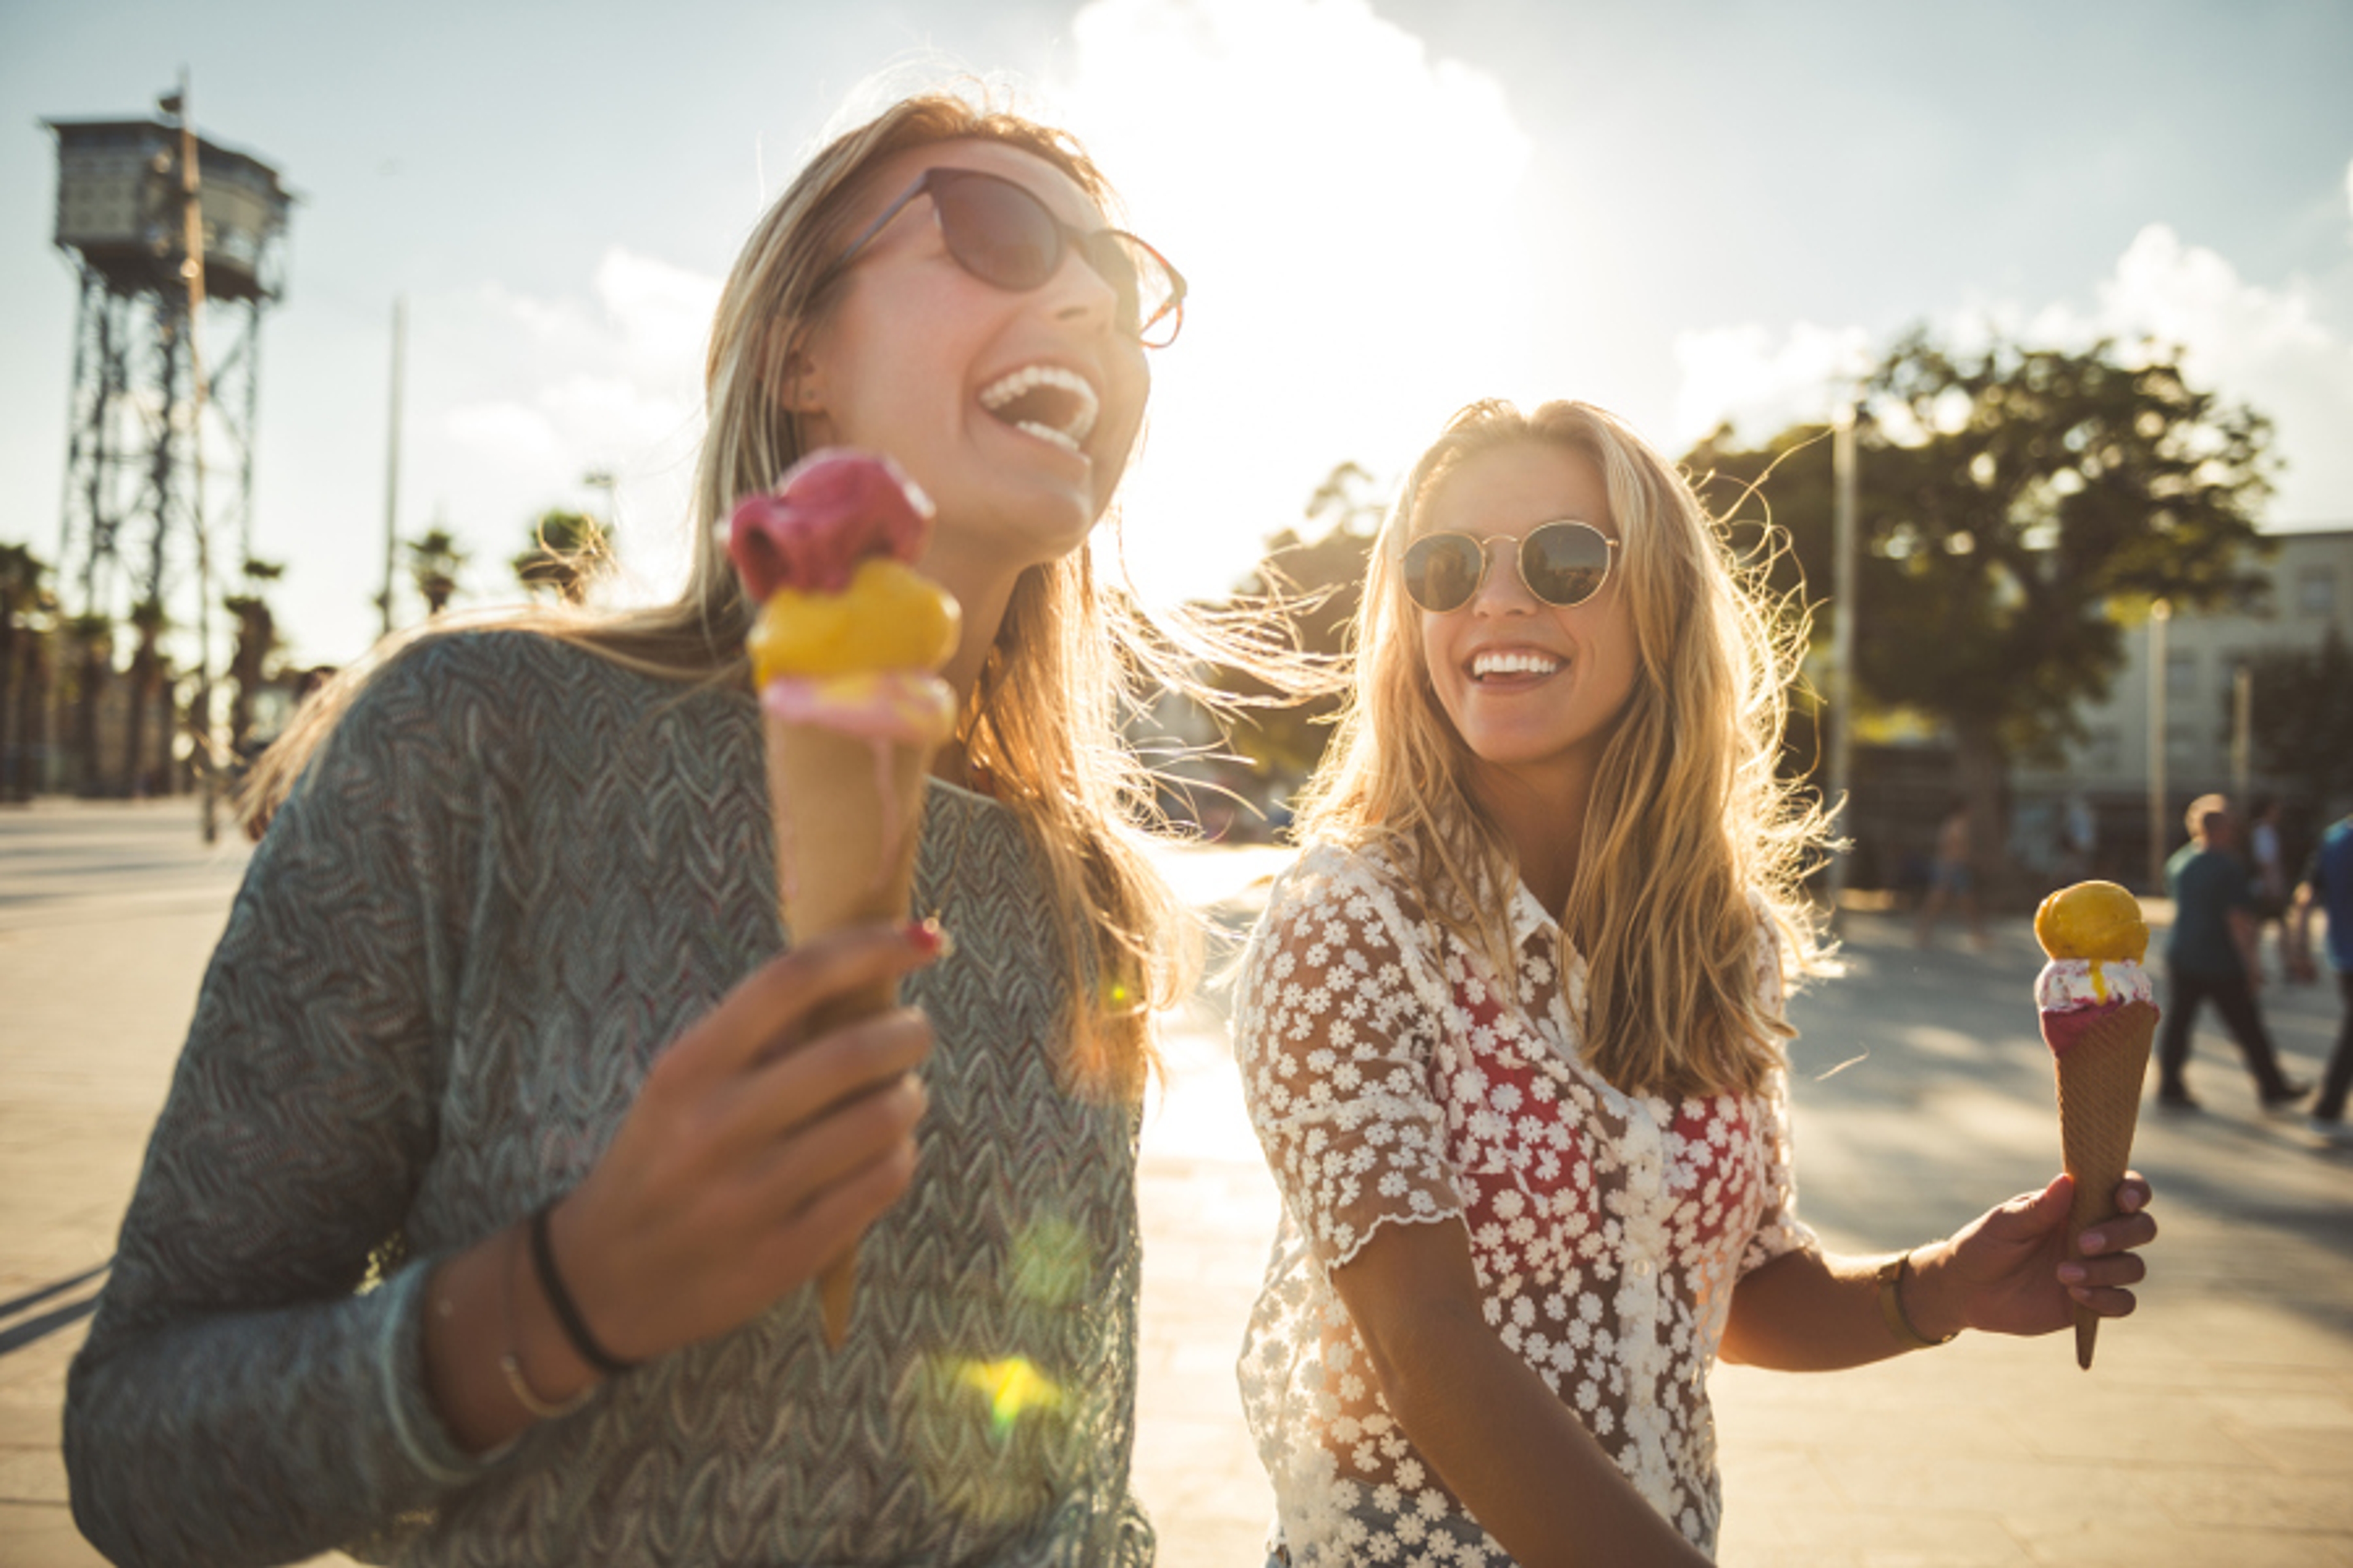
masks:
POLYGON ((1602 409, 1478 402, 1414 463, 1372 552, 1355 684, 1299 832, 1386 846, 1424 884, 1428 917, 1511 973, 1499 889, 1518 867, 1466 785, 1471 752, 1431 691, 1400 557, 1447 475, 1527 442, 1600 470, 1635 635, 1633 693, 1558 912, 1565 947, 1586 959, 1586 1060, 1626 1093, 1755 1093, 1788 1034, 1760 997, 1760 964, 1786 980, 1821 959, 1800 879, 1828 830, 1774 771, 1805 616, 1762 590, 1762 567, 1732 559, 1682 475, 1602 409))

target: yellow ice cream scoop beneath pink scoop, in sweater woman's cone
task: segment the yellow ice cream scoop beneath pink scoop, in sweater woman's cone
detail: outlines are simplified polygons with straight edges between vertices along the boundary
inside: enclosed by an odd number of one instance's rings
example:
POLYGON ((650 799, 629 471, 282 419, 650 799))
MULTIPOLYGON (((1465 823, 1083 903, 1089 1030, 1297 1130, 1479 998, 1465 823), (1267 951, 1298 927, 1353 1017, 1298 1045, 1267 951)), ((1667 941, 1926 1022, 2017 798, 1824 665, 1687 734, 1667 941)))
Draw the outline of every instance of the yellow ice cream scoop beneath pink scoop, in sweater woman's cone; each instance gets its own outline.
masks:
POLYGON ((842 592, 779 588, 746 637, 755 679, 936 670, 955 651, 962 611, 906 562, 868 557, 842 592))

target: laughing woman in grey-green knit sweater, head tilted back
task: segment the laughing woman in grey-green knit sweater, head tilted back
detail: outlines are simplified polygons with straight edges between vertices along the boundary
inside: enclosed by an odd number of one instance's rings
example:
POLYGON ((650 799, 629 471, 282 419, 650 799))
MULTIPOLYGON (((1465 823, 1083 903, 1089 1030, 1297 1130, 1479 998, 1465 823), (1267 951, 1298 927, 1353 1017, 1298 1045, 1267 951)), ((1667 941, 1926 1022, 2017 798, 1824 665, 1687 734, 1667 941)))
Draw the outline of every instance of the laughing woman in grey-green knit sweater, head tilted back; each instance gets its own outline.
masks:
POLYGON ((1061 134, 913 99, 800 174, 708 357, 685 597, 433 635, 271 759, 73 1368, 122 1563, 1148 1563, 1144 1011, 1087 536, 1184 282, 1061 134), (965 607, 915 907, 779 957, 713 534, 819 444, 936 501, 965 607), (911 1009, 814 1032, 828 997, 911 1009), (920 1072, 918 1072, 920 1070, 920 1072), (840 1352, 802 1288, 861 1246, 840 1352))

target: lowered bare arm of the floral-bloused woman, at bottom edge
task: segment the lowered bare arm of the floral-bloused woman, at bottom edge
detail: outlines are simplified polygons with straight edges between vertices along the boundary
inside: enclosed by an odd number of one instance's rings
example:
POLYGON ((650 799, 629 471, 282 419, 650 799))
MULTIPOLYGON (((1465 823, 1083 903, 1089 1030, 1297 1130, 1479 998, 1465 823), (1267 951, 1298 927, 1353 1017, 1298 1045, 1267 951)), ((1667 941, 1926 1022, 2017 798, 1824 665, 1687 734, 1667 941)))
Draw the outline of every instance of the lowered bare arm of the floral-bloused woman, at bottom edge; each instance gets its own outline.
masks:
POLYGON ((1708 1561, 1487 1326, 1459 1220, 1384 1225, 1332 1286, 1398 1425, 1513 1561, 1708 1561))

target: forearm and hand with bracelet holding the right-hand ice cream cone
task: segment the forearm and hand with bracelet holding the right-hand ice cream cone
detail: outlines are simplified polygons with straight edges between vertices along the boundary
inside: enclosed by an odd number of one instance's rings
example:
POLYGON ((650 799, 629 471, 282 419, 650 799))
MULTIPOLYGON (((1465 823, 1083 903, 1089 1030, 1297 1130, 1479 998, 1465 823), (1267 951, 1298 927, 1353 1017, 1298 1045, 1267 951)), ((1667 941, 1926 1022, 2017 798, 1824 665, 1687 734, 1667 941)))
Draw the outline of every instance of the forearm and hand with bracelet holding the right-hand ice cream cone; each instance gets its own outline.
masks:
MULTIPOLYGON (((2125 1316, 2127 1286, 2148 1274, 2134 1248, 2158 1222, 2146 1213, 2148 1182, 2127 1175, 2115 1190, 2118 1215, 2085 1232, 2085 1258, 2066 1258, 2073 1182, 2061 1175, 1991 1208, 1958 1234, 1913 1248, 1899 1286, 1904 1319, 1925 1340, 1962 1328, 1986 1333, 2057 1333, 2075 1305, 2125 1316)), ((1751 1269, 1732 1291, 1722 1359, 1791 1373, 1864 1366, 1911 1349, 1880 1309, 1878 1258, 1786 1253, 1751 1269)))

